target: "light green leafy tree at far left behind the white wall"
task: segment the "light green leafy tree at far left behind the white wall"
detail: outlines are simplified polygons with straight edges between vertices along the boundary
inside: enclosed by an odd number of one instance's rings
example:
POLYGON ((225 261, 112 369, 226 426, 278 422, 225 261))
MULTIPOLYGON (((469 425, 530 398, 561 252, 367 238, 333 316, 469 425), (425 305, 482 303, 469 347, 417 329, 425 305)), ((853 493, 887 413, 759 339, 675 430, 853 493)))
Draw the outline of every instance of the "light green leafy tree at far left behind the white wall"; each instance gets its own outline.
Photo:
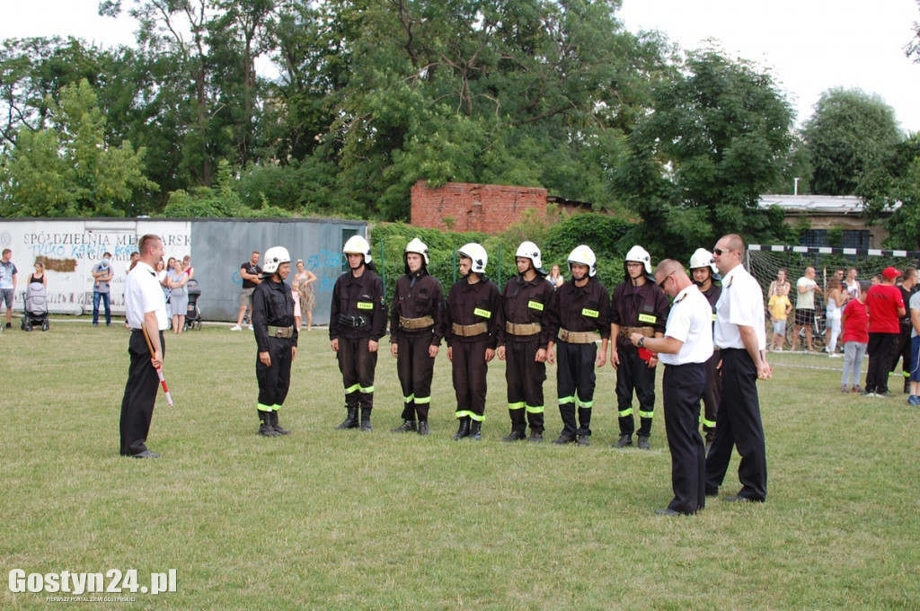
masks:
POLYGON ((105 143, 106 118, 86 79, 47 100, 50 126, 20 126, 0 174, 4 216, 124 216, 132 191, 155 187, 144 178, 144 149, 105 143))

